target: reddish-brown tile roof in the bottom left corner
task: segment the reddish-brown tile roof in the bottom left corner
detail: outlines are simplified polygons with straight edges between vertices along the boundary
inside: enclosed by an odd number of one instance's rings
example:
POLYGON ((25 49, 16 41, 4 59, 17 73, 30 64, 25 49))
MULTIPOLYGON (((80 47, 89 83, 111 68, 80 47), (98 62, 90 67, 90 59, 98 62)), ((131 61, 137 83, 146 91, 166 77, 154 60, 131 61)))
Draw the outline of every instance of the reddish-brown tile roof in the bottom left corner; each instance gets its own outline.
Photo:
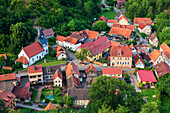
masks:
POLYGON ((5 102, 5 107, 8 107, 15 98, 16 96, 10 91, 0 90, 0 99, 5 102))

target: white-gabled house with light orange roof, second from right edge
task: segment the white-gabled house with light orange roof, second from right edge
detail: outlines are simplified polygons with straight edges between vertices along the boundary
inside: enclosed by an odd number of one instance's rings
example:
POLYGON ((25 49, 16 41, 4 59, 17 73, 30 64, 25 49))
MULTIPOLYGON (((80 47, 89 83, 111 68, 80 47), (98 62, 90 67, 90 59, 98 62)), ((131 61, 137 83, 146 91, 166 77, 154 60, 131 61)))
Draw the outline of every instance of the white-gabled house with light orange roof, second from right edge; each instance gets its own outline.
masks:
POLYGON ((161 53, 159 50, 154 49, 152 51, 152 53, 150 54, 150 57, 152 59, 152 62, 154 63, 154 65, 160 63, 160 62, 164 62, 164 59, 161 56, 161 53))

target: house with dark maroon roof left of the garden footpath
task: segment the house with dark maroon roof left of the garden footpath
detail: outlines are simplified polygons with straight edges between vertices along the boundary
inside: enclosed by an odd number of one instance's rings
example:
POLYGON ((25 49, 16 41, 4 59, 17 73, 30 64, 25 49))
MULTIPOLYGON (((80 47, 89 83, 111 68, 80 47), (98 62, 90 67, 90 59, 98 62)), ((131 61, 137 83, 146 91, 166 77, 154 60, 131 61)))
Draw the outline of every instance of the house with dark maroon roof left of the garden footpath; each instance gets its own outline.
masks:
POLYGON ((16 96, 16 101, 29 102, 32 92, 29 92, 29 87, 15 86, 12 93, 16 96))

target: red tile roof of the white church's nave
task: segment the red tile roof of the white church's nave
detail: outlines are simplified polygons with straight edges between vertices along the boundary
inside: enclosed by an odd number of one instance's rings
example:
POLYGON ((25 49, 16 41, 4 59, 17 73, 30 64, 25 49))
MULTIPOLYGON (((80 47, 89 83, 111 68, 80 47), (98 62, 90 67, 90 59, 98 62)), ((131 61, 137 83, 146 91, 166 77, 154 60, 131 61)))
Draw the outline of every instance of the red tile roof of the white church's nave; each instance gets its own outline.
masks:
POLYGON ((31 58, 35 55, 37 55, 38 53, 41 53, 44 51, 44 49, 41 47, 41 45, 39 44, 39 42, 34 42, 33 44, 24 47, 23 50, 25 51, 26 55, 31 58))

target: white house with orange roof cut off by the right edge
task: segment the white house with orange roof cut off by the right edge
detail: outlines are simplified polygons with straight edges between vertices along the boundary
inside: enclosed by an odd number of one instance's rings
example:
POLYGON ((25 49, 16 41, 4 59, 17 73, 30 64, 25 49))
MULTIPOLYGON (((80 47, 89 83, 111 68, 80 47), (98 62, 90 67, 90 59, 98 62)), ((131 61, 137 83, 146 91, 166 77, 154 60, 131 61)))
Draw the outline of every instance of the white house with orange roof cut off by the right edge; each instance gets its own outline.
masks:
POLYGON ((162 57, 163 57, 165 63, 167 63, 170 66, 170 47, 168 47, 162 51, 162 57))

